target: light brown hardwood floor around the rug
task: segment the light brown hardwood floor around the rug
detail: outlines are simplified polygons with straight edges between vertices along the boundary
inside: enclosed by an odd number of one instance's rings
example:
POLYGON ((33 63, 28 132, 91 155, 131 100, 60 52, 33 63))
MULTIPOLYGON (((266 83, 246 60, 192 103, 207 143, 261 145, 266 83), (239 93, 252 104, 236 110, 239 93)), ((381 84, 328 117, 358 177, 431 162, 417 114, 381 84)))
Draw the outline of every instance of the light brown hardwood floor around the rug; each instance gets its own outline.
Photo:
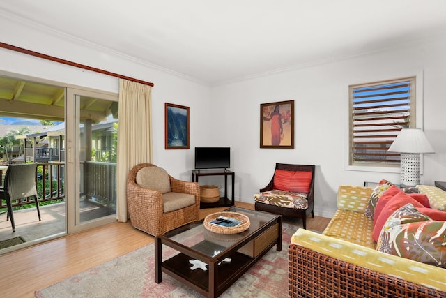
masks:
MULTIPOLYGON (((254 209, 254 204, 236 202, 254 209)), ((201 209, 200 217, 221 211, 201 209)), ((297 221, 297 220, 295 220, 297 221)), ((330 218, 307 218, 307 228, 323 231, 330 218)), ((112 260, 153 242, 153 237, 128 223, 110 223, 44 244, 0 255, 0 297, 34 297, 34 291, 112 260)))

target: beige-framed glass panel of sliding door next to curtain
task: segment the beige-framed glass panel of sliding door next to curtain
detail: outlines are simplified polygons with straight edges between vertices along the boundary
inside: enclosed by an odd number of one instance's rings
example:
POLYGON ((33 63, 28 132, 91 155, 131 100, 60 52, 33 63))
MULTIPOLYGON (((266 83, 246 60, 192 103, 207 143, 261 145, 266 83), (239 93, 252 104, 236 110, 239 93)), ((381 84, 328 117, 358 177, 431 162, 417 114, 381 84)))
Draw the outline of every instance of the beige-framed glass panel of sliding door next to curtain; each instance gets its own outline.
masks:
POLYGON ((66 111, 71 233, 116 221, 117 96, 69 88, 66 111))

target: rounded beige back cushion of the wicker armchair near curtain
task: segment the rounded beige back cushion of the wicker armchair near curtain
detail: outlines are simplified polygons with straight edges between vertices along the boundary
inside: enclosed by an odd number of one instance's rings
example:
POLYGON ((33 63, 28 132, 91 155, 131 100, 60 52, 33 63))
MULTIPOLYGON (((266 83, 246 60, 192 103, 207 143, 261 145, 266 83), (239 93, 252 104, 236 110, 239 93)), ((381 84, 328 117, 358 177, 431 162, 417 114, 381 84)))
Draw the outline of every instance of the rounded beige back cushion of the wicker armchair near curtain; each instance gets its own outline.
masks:
POLYGON ((171 191, 169 174, 162 167, 143 167, 137 172, 136 181, 139 186, 160 191, 160 193, 171 191))

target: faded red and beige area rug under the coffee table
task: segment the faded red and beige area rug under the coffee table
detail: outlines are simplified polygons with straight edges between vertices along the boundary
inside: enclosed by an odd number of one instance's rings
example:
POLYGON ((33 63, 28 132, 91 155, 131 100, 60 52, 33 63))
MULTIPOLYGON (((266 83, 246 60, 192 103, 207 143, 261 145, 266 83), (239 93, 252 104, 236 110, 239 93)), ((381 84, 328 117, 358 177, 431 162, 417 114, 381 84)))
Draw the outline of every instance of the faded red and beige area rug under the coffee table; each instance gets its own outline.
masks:
MULTIPOLYGON (((282 224, 282 251, 273 246, 220 297, 288 297, 288 247, 298 226, 282 224)), ((163 248, 163 260, 175 251, 163 248)), ((40 291, 53 297, 203 297, 162 274, 155 283, 154 246, 149 244, 40 291)))

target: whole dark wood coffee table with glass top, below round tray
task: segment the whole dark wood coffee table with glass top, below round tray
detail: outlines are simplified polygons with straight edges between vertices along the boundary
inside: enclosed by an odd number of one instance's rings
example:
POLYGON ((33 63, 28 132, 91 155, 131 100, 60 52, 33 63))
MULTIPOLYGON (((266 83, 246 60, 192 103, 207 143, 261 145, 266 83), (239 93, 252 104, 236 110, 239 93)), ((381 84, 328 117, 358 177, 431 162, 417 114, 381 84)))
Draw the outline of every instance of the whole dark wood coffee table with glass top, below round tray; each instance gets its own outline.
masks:
POLYGON ((250 225, 238 234, 217 234, 203 221, 185 225, 155 238, 155 282, 162 272, 207 297, 218 297, 267 253, 282 251, 282 216, 231 207, 226 211, 249 217, 250 225), (162 260, 164 246, 176 253, 162 260))

